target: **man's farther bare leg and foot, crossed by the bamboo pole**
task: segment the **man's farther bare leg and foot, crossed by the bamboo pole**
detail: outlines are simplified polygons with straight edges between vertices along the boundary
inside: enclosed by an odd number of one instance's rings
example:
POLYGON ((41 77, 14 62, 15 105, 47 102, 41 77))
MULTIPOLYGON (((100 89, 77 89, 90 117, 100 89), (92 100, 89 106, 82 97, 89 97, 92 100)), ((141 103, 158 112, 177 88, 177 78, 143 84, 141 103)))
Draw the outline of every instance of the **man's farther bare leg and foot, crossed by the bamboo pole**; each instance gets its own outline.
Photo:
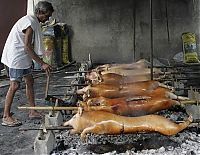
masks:
MULTIPOLYGON (((26 96, 31 107, 35 106, 34 79, 31 74, 24 77, 26 83, 26 96)), ((29 117, 41 117, 41 114, 35 110, 30 110, 29 117)))

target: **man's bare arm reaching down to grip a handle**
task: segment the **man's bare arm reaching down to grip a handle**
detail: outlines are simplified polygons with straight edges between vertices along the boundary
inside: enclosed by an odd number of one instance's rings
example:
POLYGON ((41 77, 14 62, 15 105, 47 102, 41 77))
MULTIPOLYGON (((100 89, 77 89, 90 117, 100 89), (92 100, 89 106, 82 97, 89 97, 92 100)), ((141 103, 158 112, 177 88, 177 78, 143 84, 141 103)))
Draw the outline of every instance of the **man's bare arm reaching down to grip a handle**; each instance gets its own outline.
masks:
POLYGON ((45 63, 40 57, 34 52, 33 47, 32 47, 32 36, 33 36, 33 29, 29 26, 25 31, 25 49, 28 53, 28 55, 35 60, 37 63, 41 64, 42 69, 47 71, 48 73, 52 69, 50 65, 45 63))

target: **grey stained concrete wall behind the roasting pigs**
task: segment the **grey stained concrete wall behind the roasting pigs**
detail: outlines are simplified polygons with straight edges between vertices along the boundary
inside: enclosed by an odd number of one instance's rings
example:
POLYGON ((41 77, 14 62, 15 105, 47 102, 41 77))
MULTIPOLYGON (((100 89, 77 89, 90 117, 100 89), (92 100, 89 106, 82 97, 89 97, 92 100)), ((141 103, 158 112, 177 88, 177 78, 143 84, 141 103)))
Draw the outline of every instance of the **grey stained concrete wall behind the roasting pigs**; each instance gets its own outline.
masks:
MULTIPOLYGON (((149 0, 49 0, 54 17, 71 27, 72 57, 96 63, 150 57, 149 0)), ((182 51, 181 34, 199 40, 198 0, 152 0, 154 57, 171 59, 182 51)), ((199 41, 198 41, 199 44, 199 41)))

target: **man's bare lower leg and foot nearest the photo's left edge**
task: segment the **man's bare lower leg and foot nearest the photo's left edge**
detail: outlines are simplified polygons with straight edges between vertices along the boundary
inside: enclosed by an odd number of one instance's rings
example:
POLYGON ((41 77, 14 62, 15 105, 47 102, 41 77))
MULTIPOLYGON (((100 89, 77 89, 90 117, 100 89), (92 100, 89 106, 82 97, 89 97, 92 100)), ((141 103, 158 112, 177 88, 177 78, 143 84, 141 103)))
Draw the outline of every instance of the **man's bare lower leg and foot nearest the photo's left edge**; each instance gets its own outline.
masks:
POLYGON ((4 105, 4 114, 3 119, 7 122, 15 121, 10 113, 11 105, 13 102, 13 98, 15 96, 15 92, 19 89, 20 83, 18 81, 10 81, 10 87, 6 94, 6 100, 4 105))

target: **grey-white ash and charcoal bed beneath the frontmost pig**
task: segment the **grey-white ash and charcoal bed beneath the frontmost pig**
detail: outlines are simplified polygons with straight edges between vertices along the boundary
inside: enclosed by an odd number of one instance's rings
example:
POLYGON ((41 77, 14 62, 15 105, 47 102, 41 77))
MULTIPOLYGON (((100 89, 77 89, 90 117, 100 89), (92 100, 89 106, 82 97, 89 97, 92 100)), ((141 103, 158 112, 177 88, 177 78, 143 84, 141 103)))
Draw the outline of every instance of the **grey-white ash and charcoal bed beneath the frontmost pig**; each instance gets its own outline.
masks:
MULTIPOLYGON (((180 110, 180 109, 179 109, 180 110)), ((185 112, 164 110, 158 114, 172 121, 188 117, 185 112)), ((86 142, 80 135, 62 131, 56 135, 57 146, 51 155, 198 155, 200 154, 200 129, 190 127, 174 136, 159 133, 122 135, 89 134, 86 142)))

